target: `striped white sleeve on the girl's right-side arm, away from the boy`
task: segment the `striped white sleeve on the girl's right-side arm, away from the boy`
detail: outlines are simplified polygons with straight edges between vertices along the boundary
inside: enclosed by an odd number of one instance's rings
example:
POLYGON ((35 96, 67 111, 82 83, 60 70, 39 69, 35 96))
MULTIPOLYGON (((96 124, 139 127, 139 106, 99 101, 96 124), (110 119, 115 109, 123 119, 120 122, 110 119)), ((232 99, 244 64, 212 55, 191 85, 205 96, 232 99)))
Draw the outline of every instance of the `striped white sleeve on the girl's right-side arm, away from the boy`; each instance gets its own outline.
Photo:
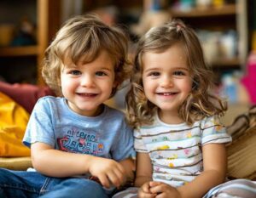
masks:
POLYGON ((201 144, 223 144, 232 141, 226 128, 219 121, 217 116, 210 116, 201 122, 201 144))

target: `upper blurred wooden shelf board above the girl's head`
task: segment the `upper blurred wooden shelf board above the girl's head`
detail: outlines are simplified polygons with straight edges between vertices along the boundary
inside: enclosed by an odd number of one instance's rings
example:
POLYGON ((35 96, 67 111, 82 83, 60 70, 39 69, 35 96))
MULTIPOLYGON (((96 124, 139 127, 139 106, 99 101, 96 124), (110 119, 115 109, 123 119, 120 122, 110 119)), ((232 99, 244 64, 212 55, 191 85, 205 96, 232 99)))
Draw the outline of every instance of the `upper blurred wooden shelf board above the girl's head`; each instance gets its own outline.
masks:
POLYGON ((219 16, 219 15, 232 15, 236 14, 236 5, 227 4, 222 7, 211 8, 193 8, 189 11, 181 11, 177 8, 171 8, 172 17, 207 17, 207 16, 219 16))

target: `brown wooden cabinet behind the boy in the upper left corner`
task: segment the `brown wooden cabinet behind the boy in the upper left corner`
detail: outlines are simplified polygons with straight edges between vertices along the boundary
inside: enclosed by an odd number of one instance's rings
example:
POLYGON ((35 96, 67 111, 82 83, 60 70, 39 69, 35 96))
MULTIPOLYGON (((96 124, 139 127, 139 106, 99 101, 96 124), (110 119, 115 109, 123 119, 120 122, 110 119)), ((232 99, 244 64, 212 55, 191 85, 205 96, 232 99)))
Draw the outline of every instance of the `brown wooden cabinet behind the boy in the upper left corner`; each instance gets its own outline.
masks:
MULTIPOLYGON (((7 14, 14 15, 14 17, 16 17, 15 19, 12 19, 12 21, 9 21, 9 17, 0 19, 0 24, 18 24, 20 17, 34 13, 31 17, 35 18, 32 20, 35 20, 36 30, 36 43, 33 45, 0 47, 1 76, 6 76, 5 74, 9 74, 9 76, 11 76, 14 73, 18 76, 18 73, 22 74, 22 71, 23 73, 28 73, 32 70, 32 77, 35 79, 34 82, 43 84, 40 65, 42 63, 42 59, 44 59, 45 48, 47 48, 49 42, 54 37, 55 32, 60 27, 61 1, 21 0, 17 3, 16 1, 9 2, 8 0, 2 0, 0 7, 2 7, 1 9, 3 10, 9 9, 7 14), (27 7, 30 7, 30 9, 27 10, 27 7)), ((27 82, 26 75, 24 77, 24 79, 22 77, 13 78, 10 82, 16 81, 15 79, 18 79, 17 82, 27 82)), ((5 80, 9 81, 8 75, 5 80)), ((31 82, 31 80, 28 80, 28 82, 31 82)))

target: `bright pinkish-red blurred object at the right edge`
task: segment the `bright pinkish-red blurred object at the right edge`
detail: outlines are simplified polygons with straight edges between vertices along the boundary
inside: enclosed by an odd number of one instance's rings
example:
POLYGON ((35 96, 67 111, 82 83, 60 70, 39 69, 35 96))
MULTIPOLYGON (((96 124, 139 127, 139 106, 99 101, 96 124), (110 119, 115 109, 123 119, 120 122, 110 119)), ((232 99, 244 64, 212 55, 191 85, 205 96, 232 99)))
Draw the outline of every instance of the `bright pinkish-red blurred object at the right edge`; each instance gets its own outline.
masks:
POLYGON ((247 88, 251 103, 256 104, 256 52, 252 52, 247 61, 247 76, 241 79, 241 83, 247 88))

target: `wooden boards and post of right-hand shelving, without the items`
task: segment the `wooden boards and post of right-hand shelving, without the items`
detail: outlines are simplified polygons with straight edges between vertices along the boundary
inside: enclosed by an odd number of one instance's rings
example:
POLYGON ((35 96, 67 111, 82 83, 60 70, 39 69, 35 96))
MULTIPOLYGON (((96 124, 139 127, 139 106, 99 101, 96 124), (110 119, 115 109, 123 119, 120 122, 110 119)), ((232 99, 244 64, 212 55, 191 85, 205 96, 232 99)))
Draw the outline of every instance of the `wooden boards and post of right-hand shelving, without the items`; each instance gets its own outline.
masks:
MULTIPOLYGON (((217 57, 212 59, 210 65, 218 68, 244 68, 248 52, 247 32, 247 1, 236 0, 219 7, 192 8, 186 11, 178 10, 171 5, 173 18, 184 20, 194 29, 225 32, 236 32, 236 55, 217 57)), ((212 46, 213 48, 213 46, 212 46)), ((207 53, 207 52, 206 52, 207 53)))

